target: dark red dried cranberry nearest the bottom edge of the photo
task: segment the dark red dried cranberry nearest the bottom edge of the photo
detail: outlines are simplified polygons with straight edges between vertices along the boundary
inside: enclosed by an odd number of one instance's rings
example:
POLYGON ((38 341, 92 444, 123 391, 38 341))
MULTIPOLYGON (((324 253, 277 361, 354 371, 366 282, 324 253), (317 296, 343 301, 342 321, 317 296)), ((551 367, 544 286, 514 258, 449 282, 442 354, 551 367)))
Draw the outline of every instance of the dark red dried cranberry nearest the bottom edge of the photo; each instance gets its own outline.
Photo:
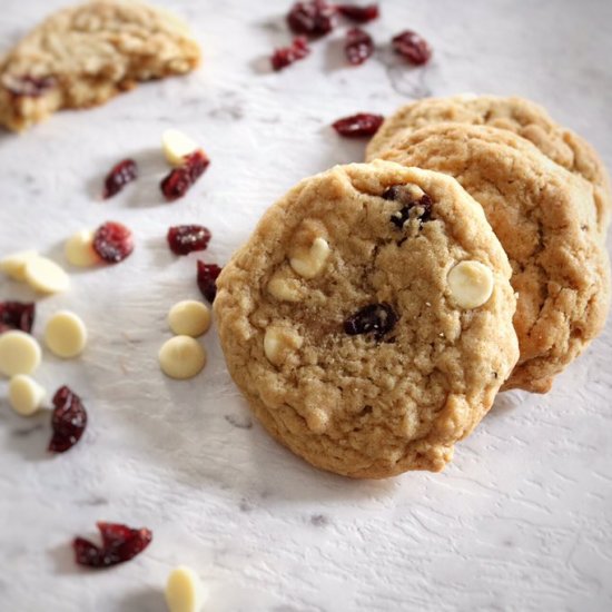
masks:
POLYGON ((152 540, 148 529, 134 530, 117 523, 97 523, 102 536, 102 545, 97 546, 83 537, 75 537, 75 560, 87 567, 110 567, 140 554, 152 540))

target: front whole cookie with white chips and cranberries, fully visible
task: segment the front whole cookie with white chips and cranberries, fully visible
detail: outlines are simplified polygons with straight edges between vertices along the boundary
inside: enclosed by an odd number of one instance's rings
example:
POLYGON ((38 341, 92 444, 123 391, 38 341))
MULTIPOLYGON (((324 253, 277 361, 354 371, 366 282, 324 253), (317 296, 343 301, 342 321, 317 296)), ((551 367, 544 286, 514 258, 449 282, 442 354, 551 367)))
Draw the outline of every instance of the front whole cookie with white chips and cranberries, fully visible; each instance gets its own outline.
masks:
POLYGON ((517 358, 507 257, 452 178, 337 166, 264 215, 217 279, 229 372, 317 467, 440 471, 517 358))

